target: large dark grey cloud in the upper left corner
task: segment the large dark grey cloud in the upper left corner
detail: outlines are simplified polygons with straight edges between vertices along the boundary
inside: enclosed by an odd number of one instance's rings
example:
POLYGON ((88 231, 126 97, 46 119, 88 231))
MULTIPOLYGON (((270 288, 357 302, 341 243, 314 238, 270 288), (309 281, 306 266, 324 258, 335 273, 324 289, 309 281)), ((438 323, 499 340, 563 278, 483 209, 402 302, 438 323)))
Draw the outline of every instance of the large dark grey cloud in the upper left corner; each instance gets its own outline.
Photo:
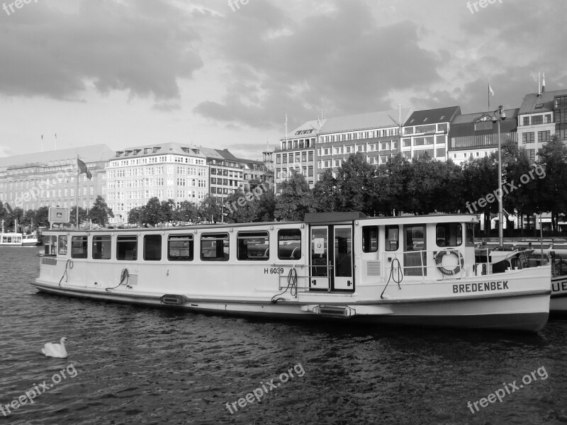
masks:
POLYGON ((80 97, 89 86, 157 100, 203 66, 181 9, 159 0, 84 0, 75 13, 31 3, 1 18, 0 93, 80 97))

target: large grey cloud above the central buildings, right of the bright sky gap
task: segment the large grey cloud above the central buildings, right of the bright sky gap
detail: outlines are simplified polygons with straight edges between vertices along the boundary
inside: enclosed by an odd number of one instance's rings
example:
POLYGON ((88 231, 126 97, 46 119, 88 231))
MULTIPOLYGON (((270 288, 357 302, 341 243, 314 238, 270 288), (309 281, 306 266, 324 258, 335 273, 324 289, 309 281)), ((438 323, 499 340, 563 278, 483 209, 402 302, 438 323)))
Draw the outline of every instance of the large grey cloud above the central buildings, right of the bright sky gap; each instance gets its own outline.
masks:
POLYGON ((230 64, 227 92, 194 112, 273 128, 285 113, 303 122, 320 108, 327 116, 388 109, 392 89, 439 81, 436 54, 420 47, 415 23, 378 26, 362 1, 327 4, 332 7, 297 21, 266 2, 251 2, 227 18, 218 36, 230 64))

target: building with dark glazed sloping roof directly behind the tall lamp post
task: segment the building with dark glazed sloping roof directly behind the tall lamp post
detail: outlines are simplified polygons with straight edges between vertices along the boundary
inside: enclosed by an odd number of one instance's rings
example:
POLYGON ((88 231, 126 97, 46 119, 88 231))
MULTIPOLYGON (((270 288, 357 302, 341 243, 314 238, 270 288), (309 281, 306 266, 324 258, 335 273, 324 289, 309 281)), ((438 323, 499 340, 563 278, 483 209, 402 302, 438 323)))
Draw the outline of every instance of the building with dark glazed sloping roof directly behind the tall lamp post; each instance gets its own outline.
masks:
MULTIPOLYGON (((506 119, 500 121, 500 141, 517 142, 519 108, 506 109, 506 119)), ((451 123, 447 159, 461 165, 467 159, 488 157, 498 149, 498 124, 492 122, 494 112, 457 115, 451 123)))

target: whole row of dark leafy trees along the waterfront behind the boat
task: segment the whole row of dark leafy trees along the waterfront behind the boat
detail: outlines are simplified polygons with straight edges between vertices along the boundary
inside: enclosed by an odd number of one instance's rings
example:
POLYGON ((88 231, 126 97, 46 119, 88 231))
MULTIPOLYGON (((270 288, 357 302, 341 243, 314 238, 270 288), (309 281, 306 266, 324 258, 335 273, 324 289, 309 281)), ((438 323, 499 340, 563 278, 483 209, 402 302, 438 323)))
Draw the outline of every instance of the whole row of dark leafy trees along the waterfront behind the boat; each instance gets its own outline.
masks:
MULTIPOLYGON (((557 231, 558 222, 567 212, 567 187, 563 183, 567 181, 567 147, 554 136, 534 163, 525 149, 507 140, 502 145, 501 156, 505 211, 522 220, 525 217, 528 227, 535 220, 534 214, 549 212, 552 229, 557 231)), ((327 169, 312 189, 302 174, 292 171, 291 178, 281 183, 277 195, 271 190, 258 190, 250 196, 238 190, 225 200, 207 195, 199 205, 184 200, 179 207, 171 199, 151 198, 147 205, 128 212, 128 223, 156 226, 301 221, 307 212, 361 211, 369 216, 472 212, 483 213, 484 228, 490 229, 491 218, 498 214, 497 188, 496 152, 468 159, 462 165, 450 159, 437 161, 427 155, 410 161, 398 154, 385 164, 374 166, 361 154, 353 154, 339 167, 336 177, 327 169)), ((106 225, 113 212, 99 198, 88 218, 106 225)), ((35 218, 37 225, 45 225, 47 208, 25 214, 14 210, 10 217, 16 215, 24 225, 30 217, 35 218)), ((86 218, 86 211, 79 208, 79 220, 86 218)), ((507 228, 511 227, 508 223, 507 228)))

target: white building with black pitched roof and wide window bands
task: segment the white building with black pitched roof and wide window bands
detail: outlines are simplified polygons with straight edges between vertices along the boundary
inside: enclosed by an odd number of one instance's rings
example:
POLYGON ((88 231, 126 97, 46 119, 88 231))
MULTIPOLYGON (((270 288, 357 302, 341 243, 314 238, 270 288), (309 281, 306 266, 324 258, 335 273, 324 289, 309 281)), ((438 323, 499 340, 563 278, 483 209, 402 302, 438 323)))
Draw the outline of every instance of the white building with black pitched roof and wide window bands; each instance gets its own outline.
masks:
POLYGON ((407 159, 427 154, 445 161, 451 123, 458 115, 461 115, 460 106, 415 111, 403 125, 401 153, 407 159))

